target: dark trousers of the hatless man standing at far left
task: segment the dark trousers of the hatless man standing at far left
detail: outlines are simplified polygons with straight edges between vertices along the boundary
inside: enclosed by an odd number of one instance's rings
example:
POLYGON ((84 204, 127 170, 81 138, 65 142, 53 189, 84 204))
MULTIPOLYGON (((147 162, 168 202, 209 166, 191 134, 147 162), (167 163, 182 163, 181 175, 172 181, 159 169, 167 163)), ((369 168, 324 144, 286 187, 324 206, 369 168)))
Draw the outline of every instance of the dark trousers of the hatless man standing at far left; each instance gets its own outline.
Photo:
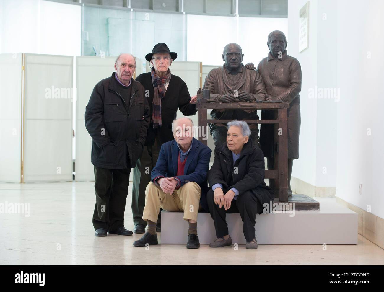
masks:
POLYGON ((115 231, 124 227, 130 172, 130 164, 124 169, 94 167, 96 204, 92 223, 95 230, 115 231))

